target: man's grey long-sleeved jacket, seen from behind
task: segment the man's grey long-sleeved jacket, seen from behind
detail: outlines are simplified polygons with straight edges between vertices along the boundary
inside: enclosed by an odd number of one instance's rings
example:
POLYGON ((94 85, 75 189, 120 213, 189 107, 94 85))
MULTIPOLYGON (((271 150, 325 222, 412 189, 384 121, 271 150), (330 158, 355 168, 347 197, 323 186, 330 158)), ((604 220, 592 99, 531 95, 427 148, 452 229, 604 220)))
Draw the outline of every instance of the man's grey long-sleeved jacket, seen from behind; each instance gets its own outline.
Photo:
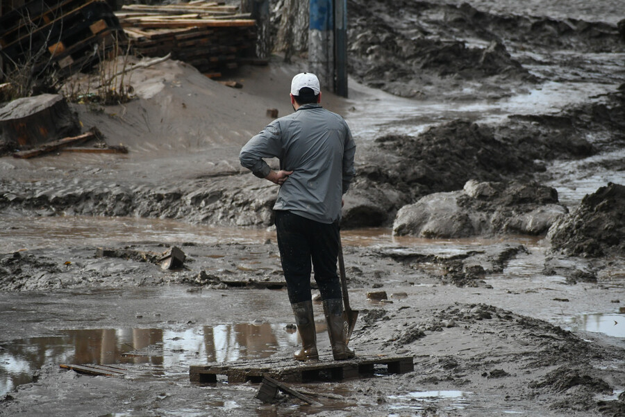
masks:
POLYGON ((278 191, 274 210, 333 223, 341 218, 341 199, 355 174, 356 144, 340 115, 319 104, 268 124, 241 149, 241 165, 265 178, 271 168, 263 158, 276 157, 281 170, 293 171, 278 191))

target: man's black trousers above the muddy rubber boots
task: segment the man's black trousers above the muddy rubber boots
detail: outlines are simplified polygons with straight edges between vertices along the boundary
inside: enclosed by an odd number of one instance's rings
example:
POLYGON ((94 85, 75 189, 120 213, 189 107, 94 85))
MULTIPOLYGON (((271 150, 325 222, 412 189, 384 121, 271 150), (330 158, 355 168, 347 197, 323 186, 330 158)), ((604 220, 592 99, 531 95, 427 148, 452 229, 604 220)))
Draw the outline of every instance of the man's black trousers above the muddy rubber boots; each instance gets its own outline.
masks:
POLYGON ((340 298, 341 284, 336 272, 338 223, 319 223, 290 211, 276 211, 276 231, 291 304, 312 299, 312 268, 322 300, 340 298))

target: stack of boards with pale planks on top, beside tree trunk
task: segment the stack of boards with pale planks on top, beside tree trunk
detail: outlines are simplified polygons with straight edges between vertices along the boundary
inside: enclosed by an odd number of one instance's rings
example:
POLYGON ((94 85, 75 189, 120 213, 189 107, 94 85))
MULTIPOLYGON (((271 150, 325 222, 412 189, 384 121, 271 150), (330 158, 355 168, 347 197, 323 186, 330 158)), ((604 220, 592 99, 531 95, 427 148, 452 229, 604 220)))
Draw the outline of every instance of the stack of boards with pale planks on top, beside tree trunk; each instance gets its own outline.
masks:
POLYGON ((115 13, 135 54, 163 56, 194 65, 207 76, 221 76, 254 56, 256 21, 238 6, 191 1, 167 6, 128 5, 115 13))

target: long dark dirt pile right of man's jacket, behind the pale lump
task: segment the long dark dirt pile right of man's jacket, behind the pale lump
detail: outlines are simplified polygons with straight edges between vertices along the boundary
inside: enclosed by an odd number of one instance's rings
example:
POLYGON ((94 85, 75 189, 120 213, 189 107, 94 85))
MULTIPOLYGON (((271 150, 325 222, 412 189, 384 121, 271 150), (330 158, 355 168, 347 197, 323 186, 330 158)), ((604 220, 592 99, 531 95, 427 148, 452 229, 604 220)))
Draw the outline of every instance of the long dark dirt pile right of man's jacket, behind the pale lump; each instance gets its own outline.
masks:
POLYGON ((584 136, 567 115, 510 118, 494 126, 455 120, 417 137, 382 136, 361 150, 367 164, 358 167, 344 226, 389 224, 401 206, 460 190, 467 178, 530 181, 545 170, 540 161, 592 155, 584 136))

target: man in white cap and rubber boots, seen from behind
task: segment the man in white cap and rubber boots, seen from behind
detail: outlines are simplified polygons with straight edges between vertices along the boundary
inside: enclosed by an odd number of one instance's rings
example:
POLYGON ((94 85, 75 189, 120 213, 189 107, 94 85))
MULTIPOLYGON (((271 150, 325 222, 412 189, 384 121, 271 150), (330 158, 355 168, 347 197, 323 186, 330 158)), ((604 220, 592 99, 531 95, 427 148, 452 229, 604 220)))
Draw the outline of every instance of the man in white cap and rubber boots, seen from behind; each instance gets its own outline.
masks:
POLYGON ((302 343, 295 359, 319 359, 310 294, 311 262, 333 357, 349 359, 354 353, 345 343, 336 261, 342 195, 355 173, 356 145, 342 117, 319 105, 321 90, 315 74, 303 72, 294 76, 290 97, 295 112, 274 120, 251 138, 239 158, 241 165, 256 177, 280 186, 274 204, 278 249, 302 343), (272 157, 280 160, 277 172, 263 161, 272 157))

